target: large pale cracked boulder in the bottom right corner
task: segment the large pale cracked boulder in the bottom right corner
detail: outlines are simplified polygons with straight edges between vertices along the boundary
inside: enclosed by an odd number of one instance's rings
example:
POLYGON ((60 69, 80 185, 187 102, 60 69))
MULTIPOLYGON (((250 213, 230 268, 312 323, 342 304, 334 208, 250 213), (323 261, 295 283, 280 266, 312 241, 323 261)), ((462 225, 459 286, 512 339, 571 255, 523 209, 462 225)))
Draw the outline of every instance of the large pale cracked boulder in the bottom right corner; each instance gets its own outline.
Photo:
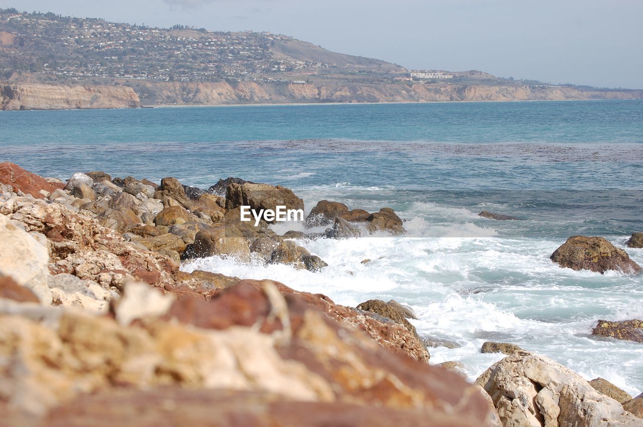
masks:
POLYGON ((620 403, 603 396, 572 370, 549 358, 518 351, 476 379, 503 426, 640 426, 620 403))

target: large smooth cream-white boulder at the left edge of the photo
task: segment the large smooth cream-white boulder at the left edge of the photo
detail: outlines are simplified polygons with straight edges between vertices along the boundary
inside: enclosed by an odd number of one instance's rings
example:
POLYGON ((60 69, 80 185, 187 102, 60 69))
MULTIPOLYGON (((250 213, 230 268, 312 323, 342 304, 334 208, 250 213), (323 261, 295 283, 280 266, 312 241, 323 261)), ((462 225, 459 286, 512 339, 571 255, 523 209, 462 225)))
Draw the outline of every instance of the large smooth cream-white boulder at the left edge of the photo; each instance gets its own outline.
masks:
POLYGON ((42 304, 51 304, 47 286, 49 251, 28 232, 0 214, 0 274, 31 290, 42 304))

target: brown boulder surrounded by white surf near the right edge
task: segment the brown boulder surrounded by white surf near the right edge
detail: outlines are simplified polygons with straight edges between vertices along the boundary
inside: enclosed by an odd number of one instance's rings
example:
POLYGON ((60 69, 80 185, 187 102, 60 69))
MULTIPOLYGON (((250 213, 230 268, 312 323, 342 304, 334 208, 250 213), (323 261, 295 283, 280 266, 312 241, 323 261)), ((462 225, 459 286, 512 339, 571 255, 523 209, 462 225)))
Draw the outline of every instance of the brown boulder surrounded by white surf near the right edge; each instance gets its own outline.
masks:
POLYGON ((561 267, 601 274, 607 270, 624 274, 638 274, 641 271, 640 266, 629 259, 627 252, 601 237, 572 236, 554 251, 551 259, 561 267))

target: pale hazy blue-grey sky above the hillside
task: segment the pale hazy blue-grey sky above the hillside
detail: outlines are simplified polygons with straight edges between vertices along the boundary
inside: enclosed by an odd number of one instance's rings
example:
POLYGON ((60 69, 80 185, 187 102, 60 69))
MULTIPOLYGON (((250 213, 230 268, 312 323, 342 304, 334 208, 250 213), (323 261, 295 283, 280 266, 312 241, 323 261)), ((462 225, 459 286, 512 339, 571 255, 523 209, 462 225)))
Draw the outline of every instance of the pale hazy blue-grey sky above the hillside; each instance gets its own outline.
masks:
POLYGON ((643 88, 643 0, 0 0, 150 26, 273 31, 409 68, 643 88))

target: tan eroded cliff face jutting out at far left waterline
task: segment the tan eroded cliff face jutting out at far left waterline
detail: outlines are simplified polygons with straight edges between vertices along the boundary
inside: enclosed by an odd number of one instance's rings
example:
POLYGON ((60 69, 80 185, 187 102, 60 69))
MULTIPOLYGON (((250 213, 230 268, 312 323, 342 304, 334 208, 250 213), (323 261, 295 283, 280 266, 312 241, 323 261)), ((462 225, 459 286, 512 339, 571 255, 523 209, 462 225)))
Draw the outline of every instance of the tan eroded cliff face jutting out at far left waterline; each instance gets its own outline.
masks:
POLYGON ((0 110, 122 109, 140 107, 131 87, 0 83, 0 110))

